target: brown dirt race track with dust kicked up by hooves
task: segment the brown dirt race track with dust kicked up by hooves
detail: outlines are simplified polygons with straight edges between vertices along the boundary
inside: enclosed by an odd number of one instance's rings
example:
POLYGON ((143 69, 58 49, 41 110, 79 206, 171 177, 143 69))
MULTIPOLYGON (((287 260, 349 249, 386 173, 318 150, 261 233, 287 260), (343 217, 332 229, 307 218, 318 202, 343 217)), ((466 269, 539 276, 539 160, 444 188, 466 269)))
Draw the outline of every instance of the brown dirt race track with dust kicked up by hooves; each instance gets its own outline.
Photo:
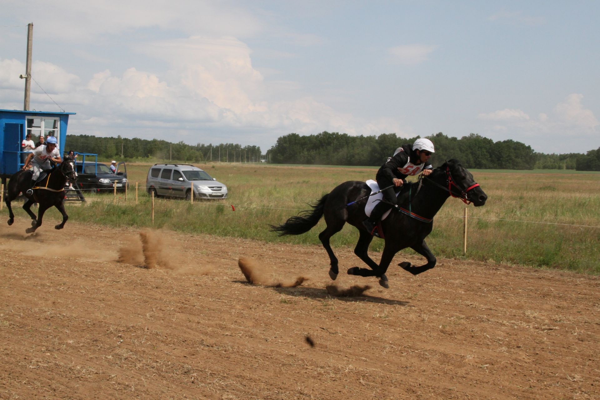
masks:
POLYGON ((2 399, 600 398, 597 277, 443 259, 412 276, 397 255, 386 290, 339 249, 338 288, 372 287, 332 297, 320 246, 2 224, 2 399))

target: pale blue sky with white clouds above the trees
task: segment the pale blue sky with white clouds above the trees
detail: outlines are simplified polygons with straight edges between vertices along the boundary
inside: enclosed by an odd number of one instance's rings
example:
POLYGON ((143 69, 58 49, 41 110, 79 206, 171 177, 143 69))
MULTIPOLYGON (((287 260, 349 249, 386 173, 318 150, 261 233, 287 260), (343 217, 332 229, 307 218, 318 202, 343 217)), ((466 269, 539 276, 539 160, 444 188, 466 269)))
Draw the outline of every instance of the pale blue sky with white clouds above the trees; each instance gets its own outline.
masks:
POLYGON ((0 108, 23 107, 33 22, 30 107, 77 113, 70 134, 263 153, 325 130, 600 147, 600 2, 161 3, 4 0, 0 108))

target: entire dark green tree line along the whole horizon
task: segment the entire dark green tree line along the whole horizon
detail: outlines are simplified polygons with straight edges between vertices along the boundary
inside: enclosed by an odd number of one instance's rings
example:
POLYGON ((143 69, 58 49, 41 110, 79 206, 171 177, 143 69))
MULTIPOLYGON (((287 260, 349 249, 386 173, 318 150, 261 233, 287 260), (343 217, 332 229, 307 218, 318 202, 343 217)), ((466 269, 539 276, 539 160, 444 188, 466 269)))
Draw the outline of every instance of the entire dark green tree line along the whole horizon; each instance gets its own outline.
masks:
MULTIPOLYGON (((394 154, 396 148, 413 143, 417 138, 398 137, 395 133, 379 136, 350 136, 327 131, 308 136, 290 133, 279 137, 266 155, 262 155, 259 146, 237 143, 187 145, 158 139, 68 135, 65 151, 98 154, 102 159, 115 160, 256 163, 266 158, 269 163, 277 164, 380 166, 394 154)), ((457 158, 471 169, 600 171, 600 148, 590 150, 587 154, 544 154, 515 140, 494 142, 473 133, 458 139, 440 132, 427 136, 427 139, 431 139, 436 146, 431 158, 434 166, 442 164, 444 160, 457 158)))

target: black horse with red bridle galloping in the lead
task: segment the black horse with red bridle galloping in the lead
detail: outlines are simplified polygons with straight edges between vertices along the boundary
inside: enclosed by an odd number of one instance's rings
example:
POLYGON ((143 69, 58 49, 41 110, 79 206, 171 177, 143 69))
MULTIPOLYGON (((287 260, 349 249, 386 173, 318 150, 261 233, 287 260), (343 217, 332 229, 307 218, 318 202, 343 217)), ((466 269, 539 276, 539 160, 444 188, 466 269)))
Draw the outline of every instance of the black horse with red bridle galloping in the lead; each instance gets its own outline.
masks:
POLYGON ((329 245, 329 238, 339 232, 346 222, 358 228, 360 236, 354 254, 358 255, 369 267, 353 267, 349 275, 377 276, 379 284, 389 287, 385 275, 394 255, 403 248, 410 247, 427 258, 422 266, 412 266, 404 261, 398 264, 403 269, 417 275, 436 265, 436 257, 425 243, 425 237, 431 233, 433 217, 448 197, 458 197, 466 204, 483 206, 487 196, 473 180, 473 175, 458 160, 449 160, 436 168, 429 176, 423 176, 419 182, 404 185, 398 198, 398 206, 381 222, 385 245, 379 265, 368 256, 368 246, 373 236, 364 228, 362 221, 367 218, 365 204, 371 189, 365 182, 347 181, 323 196, 312 210, 305 210, 298 216, 292 216, 282 225, 269 225, 279 236, 308 232, 325 215, 327 227, 319 234, 323 247, 329 254, 331 268, 329 276, 337 278, 338 259, 329 245), (356 201, 356 202, 355 202, 356 201))

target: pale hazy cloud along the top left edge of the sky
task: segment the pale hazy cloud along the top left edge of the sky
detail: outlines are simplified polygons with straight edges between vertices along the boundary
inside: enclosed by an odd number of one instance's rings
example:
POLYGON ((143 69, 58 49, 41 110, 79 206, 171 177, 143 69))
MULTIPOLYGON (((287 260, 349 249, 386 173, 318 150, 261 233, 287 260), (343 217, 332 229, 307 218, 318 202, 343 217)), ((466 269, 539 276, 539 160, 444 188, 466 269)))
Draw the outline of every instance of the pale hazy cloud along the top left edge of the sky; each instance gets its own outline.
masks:
POLYGON ((64 0, 53 2, 51 7, 46 1, 32 0, 26 14, 22 13, 22 2, 8 0, 3 11, 22 14, 27 21, 36 21, 35 31, 47 32, 49 37, 67 43, 97 41, 101 35, 118 35, 139 28, 236 37, 263 29, 263 23, 251 11, 209 0, 154 2, 151 7, 142 0, 64 0))

